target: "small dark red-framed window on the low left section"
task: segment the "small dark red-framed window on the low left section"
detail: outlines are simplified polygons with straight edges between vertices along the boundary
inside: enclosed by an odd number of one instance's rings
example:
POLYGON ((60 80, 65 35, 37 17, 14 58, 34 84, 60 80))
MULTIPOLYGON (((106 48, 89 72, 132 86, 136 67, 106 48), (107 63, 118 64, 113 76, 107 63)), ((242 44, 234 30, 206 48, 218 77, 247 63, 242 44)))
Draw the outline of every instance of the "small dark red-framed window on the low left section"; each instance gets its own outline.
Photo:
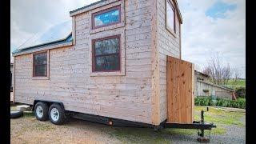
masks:
POLYGON ((47 76, 47 52, 33 54, 33 76, 47 76))

